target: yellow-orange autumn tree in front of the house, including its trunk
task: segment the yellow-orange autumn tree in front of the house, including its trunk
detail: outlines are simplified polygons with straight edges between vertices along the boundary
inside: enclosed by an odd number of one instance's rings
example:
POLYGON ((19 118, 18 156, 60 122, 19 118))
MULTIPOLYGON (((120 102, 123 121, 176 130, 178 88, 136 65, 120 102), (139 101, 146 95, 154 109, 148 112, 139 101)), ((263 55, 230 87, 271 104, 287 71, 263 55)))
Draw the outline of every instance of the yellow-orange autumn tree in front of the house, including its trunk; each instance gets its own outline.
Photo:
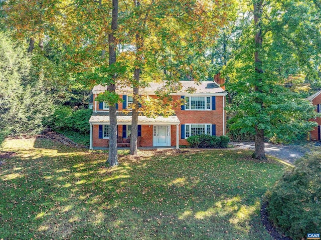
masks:
MULTIPOLYGON (((130 153, 137 154, 137 122, 140 113, 155 116, 171 112, 171 92, 180 89, 179 80, 196 82, 208 78, 205 61, 209 42, 217 36, 217 29, 227 20, 230 1, 164 1, 131 0, 120 21, 126 31, 122 44, 128 69, 133 77, 127 85, 133 89, 130 153), (139 96, 152 81, 167 81, 157 91, 158 100, 144 102, 139 96), (140 108, 138 102, 142 103, 140 108), (158 110, 152 107, 158 105, 158 110), (150 108, 151 107, 151 108, 150 108)), ((173 112, 173 111, 172 111, 173 112)))

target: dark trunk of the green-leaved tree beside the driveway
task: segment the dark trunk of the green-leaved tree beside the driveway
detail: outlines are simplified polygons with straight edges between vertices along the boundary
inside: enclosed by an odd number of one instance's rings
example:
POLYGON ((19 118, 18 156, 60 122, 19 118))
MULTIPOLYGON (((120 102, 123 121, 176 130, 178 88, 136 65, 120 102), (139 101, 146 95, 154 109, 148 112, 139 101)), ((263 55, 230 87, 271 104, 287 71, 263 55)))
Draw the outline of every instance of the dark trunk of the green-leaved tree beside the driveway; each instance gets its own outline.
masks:
MULTIPOLYGON (((260 50, 262 49, 262 28, 261 28, 261 17, 262 17, 262 4, 263 0, 254 0, 253 2, 253 10, 254 10, 254 26, 256 30, 255 34, 255 51, 254 51, 254 64, 255 64, 255 72, 257 73, 257 84, 254 87, 255 92, 262 93, 262 61, 260 59, 260 50)), ((260 104, 260 110, 258 113, 260 113, 264 106, 263 101, 260 98, 256 98, 255 102, 260 104)), ((265 159, 265 151, 264 151, 264 129, 259 129, 258 124, 255 125, 255 149, 253 153, 253 158, 256 159, 265 159)))

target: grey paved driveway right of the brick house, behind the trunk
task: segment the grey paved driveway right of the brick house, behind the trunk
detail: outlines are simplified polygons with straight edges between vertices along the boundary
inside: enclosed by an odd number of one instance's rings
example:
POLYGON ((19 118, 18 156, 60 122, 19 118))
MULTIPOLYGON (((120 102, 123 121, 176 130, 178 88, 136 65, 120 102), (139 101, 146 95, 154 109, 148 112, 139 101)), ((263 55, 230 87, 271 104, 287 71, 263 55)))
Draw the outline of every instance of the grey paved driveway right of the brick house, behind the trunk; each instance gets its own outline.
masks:
MULTIPOLYGON (((239 146, 241 149, 254 150, 254 142, 231 142, 230 144, 239 146)), ((280 158, 290 164, 293 164, 296 159, 304 156, 304 153, 299 151, 299 148, 295 145, 279 145, 271 143, 265 143, 265 153, 280 158)))

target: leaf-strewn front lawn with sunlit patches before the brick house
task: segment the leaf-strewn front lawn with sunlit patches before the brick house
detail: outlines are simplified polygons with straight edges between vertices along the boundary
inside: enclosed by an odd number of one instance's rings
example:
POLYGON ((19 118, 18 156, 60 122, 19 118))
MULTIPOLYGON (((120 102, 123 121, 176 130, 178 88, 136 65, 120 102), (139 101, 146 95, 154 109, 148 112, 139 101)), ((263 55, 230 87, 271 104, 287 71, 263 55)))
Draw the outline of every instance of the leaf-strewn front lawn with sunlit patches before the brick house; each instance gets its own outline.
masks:
POLYGON ((262 195, 286 166, 239 150, 107 153, 12 139, 0 167, 0 239, 269 239, 262 195))

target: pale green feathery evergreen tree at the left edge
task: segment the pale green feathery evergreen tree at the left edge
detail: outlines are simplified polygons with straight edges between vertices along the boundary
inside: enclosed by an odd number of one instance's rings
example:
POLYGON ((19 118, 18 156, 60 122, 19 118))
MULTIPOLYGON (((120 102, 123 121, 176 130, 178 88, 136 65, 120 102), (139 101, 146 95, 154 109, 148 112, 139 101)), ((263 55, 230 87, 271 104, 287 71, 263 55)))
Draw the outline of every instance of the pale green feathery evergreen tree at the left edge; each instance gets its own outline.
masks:
POLYGON ((31 75, 32 56, 0 33, 0 129, 2 135, 33 135, 43 129, 52 101, 43 91, 42 76, 31 75))

